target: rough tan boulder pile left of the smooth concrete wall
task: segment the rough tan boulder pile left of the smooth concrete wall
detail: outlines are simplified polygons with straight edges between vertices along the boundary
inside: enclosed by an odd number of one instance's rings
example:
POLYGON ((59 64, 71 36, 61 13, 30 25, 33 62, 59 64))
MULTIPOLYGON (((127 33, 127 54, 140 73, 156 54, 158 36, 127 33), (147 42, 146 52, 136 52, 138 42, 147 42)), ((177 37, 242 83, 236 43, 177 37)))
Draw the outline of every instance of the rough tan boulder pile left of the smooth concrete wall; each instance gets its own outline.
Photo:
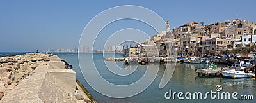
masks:
POLYGON ((27 53, 0 58, 0 99, 26 78, 49 55, 27 53))

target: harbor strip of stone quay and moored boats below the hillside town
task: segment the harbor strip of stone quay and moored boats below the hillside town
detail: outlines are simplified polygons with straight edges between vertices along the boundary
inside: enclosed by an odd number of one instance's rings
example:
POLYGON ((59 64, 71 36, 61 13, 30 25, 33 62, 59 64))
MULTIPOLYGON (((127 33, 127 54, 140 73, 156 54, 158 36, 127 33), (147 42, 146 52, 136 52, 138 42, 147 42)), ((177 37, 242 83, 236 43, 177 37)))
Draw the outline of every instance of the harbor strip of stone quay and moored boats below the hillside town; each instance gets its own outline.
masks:
POLYGON ((124 57, 104 58, 105 61, 122 61, 124 65, 129 64, 164 64, 164 63, 179 63, 179 64, 207 64, 202 68, 196 68, 195 72, 198 77, 218 77, 223 78, 255 78, 255 60, 254 58, 236 58, 231 59, 225 56, 196 58, 196 57, 124 57), (235 64, 237 62, 237 64, 235 64), (218 67, 216 64, 223 64, 225 67, 218 67))

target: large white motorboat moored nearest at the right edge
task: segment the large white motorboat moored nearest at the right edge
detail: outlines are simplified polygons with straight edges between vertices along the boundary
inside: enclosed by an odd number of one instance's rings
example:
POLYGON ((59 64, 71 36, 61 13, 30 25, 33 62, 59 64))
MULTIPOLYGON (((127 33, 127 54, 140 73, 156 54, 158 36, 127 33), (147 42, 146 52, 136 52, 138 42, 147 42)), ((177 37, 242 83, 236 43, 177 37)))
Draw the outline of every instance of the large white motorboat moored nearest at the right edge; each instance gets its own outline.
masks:
POLYGON ((246 71, 244 67, 236 67, 236 69, 228 69, 222 72, 223 78, 251 78, 255 77, 252 71, 246 71))

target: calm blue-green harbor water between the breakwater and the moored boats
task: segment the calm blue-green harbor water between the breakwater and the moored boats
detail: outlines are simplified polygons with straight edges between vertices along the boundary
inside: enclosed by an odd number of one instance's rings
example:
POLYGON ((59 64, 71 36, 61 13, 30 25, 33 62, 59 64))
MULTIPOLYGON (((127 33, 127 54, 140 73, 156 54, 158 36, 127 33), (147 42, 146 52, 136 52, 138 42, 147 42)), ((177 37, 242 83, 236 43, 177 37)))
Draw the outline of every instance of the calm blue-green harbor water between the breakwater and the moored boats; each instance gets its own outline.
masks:
MULTIPOLYGON (((256 102, 256 80, 255 78, 243 78, 243 79, 226 79, 226 78, 200 78, 197 77, 195 69, 199 67, 205 67, 204 64, 176 64, 175 72, 173 73, 172 79, 169 81, 168 85, 164 88, 159 89, 159 83, 164 73, 164 64, 160 65, 159 72, 156 79, 145 91, 138 95, 125 99, 115 99, 111 97, 106 97, 95 90, 86 83, 81 69, 79 67, 78 55, 77 53, 55 53, 61 59, 66 60, 71 64, 76 71, 76 76, 79 81, 85 86, 85 88, 92 94, 92 96, 97 100, 97 102, 256 102), (221 92, 237 92, 239 95, 253 95, 254 100, 221 100, 221 99, 208 99, 206 100, 179 100, 177 97, 175 99, 165 99, 164 93, 172 89, 172 92, 202 92, 203 95, 206 92, 216 92, 215 86, 221 85, 223 90, 221 92)), ((90 57, 90 54, 83 53, 83 57, 90 57)), ((111 54, 109 54, 110 56, 111 54)), ((106 65, 104 65, 104 60, 102 54, 94 54, 95 65, 97 65, 97 70, 100 72, 104 79, 116 85, 126 85, 134 83, 143 76, 147 65, 138 65, 138 68, 131 76, 116 76, 115 74, 108 71, 106 65)), ((107 55, 108 57, 108 55, 107 55)), ((116 57, 122 57, 121 54, 116 54, 116 57)), ((115 62, 108 62, 113 63, 115 62)), ((120 67, 126 67, 122 62, 116 62, 120 67)), ((83 63, 81 65, 92 65, 83 63)), ((219 65, 225 66, 225 65, 219 65)), ((83 68, 82 68, 83 69, 83 68)), ((97 79, 95 79, 97 81, 97 79)), ((100 85, 100 84, 99 84, 100 85)), ((102 85, 103 87, 104 85, 102 85)), ((122 93, 122 91, 120 91, 122 93)), ((220 92, 220 93, 221 93, 220 92)), ((125 93, 125 92, 124 92, 125 93)), ((237 96, 239 98, 239 96, 237 96)))

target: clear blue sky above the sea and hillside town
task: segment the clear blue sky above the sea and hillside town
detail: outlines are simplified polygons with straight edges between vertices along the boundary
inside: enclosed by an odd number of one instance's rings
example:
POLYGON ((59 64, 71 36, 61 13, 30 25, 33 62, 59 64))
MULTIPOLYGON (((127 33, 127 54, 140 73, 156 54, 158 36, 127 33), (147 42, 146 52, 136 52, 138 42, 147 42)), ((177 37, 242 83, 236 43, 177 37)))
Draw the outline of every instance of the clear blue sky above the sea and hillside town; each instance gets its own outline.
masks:
MULTIPOLYGON (((84 27, 95 15, 108 8, 127 4, 155 11, 165 21, 170 20, 171 29, 189 21, 204 21, 205 24, 236 18, 256 21, 254 0, 0 1, 0 51, 73 48, 78 46, 84 27)), ((134 24, 124 22, 121 25, 132 27, 134 24)), ((145 31, 149 35, 156 34, 152 30, 145 31)), ((100 48, 100 44, 96 48, 100 48)))

